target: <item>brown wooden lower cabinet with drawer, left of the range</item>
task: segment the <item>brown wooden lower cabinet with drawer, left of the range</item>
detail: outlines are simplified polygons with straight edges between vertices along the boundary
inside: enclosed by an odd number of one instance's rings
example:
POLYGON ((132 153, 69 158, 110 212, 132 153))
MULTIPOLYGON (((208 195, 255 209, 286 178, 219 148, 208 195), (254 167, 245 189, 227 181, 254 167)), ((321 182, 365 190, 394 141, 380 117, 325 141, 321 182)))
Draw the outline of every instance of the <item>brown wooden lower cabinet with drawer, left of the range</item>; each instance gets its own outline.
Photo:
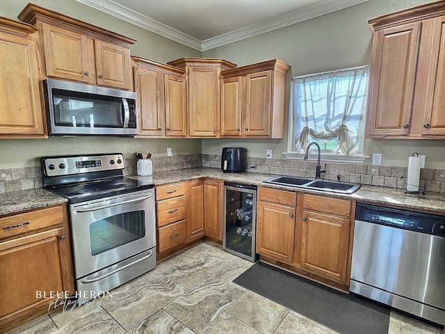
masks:
POLYGON ((74 294, 65 204, 0 217, 0 277, 1 333, 74 294))

